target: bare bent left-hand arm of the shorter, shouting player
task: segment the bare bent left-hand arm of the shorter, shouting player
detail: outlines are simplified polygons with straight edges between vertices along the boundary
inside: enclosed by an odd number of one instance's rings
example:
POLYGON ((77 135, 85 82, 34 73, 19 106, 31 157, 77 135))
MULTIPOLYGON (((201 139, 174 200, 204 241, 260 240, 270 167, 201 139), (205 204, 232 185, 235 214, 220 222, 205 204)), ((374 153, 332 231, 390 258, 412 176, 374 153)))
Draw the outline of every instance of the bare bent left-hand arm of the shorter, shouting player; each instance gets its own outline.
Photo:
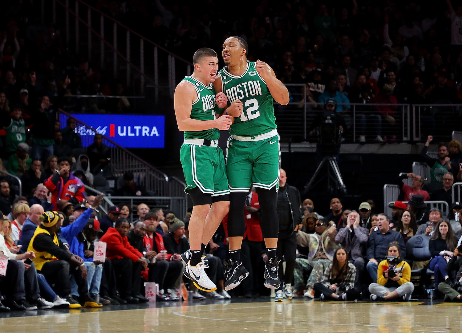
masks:
POLYGON ((222 116, 215 120, 191 119, 193 101, 197 98, 197 92, 193 85, 188 82, 180 82, 175 89, 174 107, 176 123, 180 131, 204 131, 211 128, 227 130, 231 126, 231 117, 222 116))

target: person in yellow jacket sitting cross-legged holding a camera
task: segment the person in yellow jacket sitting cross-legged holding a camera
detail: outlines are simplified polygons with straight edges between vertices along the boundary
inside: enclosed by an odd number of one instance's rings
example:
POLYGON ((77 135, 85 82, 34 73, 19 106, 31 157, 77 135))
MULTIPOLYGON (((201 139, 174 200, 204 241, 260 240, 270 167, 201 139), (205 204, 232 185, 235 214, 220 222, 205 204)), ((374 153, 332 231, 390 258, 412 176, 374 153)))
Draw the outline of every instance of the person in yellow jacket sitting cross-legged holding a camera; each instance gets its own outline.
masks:
POLYGON ((377 283, 369 285, 371 300, 389 301, 398 298, 409 301, 413 291, 411 266, 400 258, 398 242, 391 242, 387 259, 378 264, 377 283))

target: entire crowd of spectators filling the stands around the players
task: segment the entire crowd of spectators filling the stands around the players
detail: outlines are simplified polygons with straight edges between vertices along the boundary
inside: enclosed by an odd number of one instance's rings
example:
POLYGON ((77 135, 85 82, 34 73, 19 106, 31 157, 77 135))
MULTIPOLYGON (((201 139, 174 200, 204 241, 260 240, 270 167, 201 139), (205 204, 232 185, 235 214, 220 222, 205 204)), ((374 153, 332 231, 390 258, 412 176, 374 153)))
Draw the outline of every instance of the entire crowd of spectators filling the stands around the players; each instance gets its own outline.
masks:
MULTIPOLYGON (((139 3, 98 2, 100 9, 122 22, 133 23, 133 16, 143 12, 137 24, 146 28, 146 36, 186 59, 201 46, 215 43, 219 50, 224 36, 245 36, 249 59, 267 61, 285 83, 304 84, 313 104, 331 98, 345 104, 460 102, 462 37, 456 27, 462 21, 462 6, 453 7, 449 0, 436 8, 391 1, 262 1, 234 20, 232 15, 217 15, 221 4, 208 4, 195 15, 193 8, 159 0, 144 12, 139 3)), ((123 86, 112 86, 103 72, 93 70, 63 44, 59 29, 40 24, 23 6, 16 14, 1 14, 5 24, 0 36, 0 156, 5 162, 0 169, 21 178, 24 196, 15 195, 12 179, 0 180, 0 251, 9 258, 7 275, 0 277, 0 309, 146 302, 143 282, 159 284, 160 301, 177 300, 185 265, 180 254, 188 250, 187 217, 183 222, 174 212, 123 204, 109 207, 98 219, 95 209, 101 197, 86 195, 84 185, 91 185, 110 163, 109 148, 101 135, 95 135, 86 151, 70 158, 81 149, 76 123, 56 121, 58 107, 92 109, 90 104, 78 105, 70 95, 122 95, 123 86), (134 208, 138 217, 131 220, 134 208), (107 244, 104 262, 93 261, 97 240, 107 244)), ((300 93, 291 92, 293 98, 300 93)), ((399 124, 393 105, 362 110, 354 119, 360 141, 370 133, 365 127, 374 128, 371 139, 382 141, 381 124, 390 127, 386 134, 393 140, 399 124)), ((336 111, 351 126, 349 106, 338 105, 336 111)), ((432 124, 435 115, 441 119, 444 112, 432 111, 422 120, 432 124)), ((405 244, 413 237, 426 240, 430 255, 426 261, 413 260, 412 266, 431 268, 435 287, 450 300, 460 300, 455 273, 462 262, 456 248, 461 242, 462 204, 453 202, 450 189, 455 180, 462 180, 462 145, 456 140, 438 145, 438 158, 432 159, 426 154, 432 140, 429 136, 421 153, 431 179, 413 173, 397 176, 402 197, 392 205, 391 217, 376 214, 372 200, 356 211, 344 208, 339 198, 330 201, 331 212, 325 217, 307 198, 298 216, 294 212, 300 205, 293 201, 298 191, 287 185, 295 210, 290 215, 281 212, 280 243, 288 246, 278 248, 286 271, 281 265, 277 300, 291 298, 292 285, 293 295, 308 298, 318 294, 321 299, 346 300, 370 292, 373 301, 409 300, 413 285, 405 244), (411 185, 402 182, 406 178, 411 185), (446 201, 448 216, 438 209, 427 211, 428 199, 446 201)), ((116 194, 148 194, 131 173, 121 181, 116 194)), ((280 185, 286 188, 285 181, 280 185)), ((243 209, 247 230, 242 251, 249 277, 235 292, 253 297, 265 292, 256 193, 249 193, 243 209)), ((226 246, 225 220, 206 255, 207 274, 218 286, 207 296, 215 299, 230 297, 223 288, 226 246)), ((189 287, 195 298, 204 298, 189 287)))

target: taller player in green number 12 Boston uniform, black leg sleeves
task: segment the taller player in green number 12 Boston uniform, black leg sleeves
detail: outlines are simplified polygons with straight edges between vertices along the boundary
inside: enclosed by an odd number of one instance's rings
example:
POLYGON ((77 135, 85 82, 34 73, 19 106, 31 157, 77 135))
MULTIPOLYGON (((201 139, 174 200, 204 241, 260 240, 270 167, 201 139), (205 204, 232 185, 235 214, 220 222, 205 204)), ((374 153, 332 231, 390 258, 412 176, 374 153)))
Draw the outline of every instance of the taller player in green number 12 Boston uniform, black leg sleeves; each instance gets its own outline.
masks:
MULTIPOLYGON (((248 61, 247 52, 248 45, 243 38, 227 38, 222 50, 225 67, 213 82, 217 93, 225 93, 228 105, 236 100, 243 103, 242 114, 233 118, 226 151, 226 175, 230 188, 230 260, 226 265, 225 290, 236 287, 248 275, 240 260, 240 249, 245 231, 243 207, 251 184, 257 188, 261 231, 267 248, 265 286, 271 289, 280 286, 276 258, 280 146, 273 100, 287 105, 289 91, 265 62, 248 61)), ((225 114, 233 115, 231 110, 226 110, 225 114)))

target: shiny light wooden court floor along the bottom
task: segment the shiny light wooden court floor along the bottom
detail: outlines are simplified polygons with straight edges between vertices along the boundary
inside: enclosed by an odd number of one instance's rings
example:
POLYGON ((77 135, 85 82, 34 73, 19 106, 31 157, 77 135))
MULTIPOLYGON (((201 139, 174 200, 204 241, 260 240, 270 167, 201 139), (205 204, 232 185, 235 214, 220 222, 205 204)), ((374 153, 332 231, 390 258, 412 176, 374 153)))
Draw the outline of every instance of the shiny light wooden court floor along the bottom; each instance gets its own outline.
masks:
MULTIPOLYGON (((268 298, 269 299, 269 298, 268 298)), ((143 309, 27 311, 0 317, 5 333, 460 332, 460 303, 337 303, 235 300, 146 304, 143 309)))

